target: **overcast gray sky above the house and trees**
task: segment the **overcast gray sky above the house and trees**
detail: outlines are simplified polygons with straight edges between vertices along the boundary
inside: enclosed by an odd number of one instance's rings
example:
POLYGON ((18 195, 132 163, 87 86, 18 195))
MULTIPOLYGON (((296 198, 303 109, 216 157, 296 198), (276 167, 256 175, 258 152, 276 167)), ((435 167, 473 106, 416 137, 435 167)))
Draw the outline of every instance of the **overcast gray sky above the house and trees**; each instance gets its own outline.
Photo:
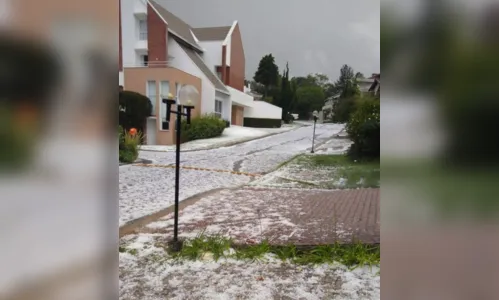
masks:
POLYGON ((272 53, 290 76, 324 73, 343 64, 364 75, 380 71, 380 0, 158 0, 193 27, 239 21, 246 79, 272 53))

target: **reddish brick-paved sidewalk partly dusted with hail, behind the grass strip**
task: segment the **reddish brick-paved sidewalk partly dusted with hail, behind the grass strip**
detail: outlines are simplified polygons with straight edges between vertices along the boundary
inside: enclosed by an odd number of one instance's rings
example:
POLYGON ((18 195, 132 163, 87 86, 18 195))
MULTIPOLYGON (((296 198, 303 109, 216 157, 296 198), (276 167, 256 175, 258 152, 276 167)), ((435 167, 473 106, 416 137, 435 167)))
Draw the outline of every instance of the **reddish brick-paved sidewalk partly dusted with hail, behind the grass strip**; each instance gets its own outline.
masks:
MULTIPOLYGON (((201 232, 230 236, 236 243, 268 239, 296 245, 380 242, 379 189, 223 189, 185 207, 180 236, 201 232)), ((170 239, 173 214, 136 231, 170 239)))

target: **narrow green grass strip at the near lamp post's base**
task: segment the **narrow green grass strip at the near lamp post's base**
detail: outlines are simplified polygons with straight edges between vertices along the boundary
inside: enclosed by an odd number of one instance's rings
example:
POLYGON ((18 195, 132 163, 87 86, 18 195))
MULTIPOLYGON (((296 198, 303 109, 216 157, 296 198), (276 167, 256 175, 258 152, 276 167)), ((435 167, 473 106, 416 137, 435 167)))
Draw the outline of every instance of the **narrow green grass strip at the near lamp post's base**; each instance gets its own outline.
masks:
POLYGON ((355 269, 358 266, 377 266, 380 264, 380 247, 353 243, 343 245, 321 245, 309 249, 299 249, 295 245, 274 246, 263 241, 255 245, 236 246, 229 238, 222 236, 198 235, 187 240, 178 253, 170 253, 176 259, 198 260, 205 253, 213 259, 232 258, 237 260, 261 260, 266 254, 273 254, 282 261, 300 265, 341 263, 355 269))

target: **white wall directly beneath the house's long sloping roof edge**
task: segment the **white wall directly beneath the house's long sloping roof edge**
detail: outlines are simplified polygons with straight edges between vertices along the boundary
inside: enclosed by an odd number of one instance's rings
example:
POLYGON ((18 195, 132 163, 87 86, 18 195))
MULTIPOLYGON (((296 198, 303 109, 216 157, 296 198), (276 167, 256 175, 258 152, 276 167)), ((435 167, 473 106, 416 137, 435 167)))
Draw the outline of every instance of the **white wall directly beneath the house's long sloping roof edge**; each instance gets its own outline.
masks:
POLYGON ((168 53, 174 57, 170 62, 171 67, 201 78, 201 114, 213 113, 215 111, 215 87, 171 35, 168 37, 168 53))

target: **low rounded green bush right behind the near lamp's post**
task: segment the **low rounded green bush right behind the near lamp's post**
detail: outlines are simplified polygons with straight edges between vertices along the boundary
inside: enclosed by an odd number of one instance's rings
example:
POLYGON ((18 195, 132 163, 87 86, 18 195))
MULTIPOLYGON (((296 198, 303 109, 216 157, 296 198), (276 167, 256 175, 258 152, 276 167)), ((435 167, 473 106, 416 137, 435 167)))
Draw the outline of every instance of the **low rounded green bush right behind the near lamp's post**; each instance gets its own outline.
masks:
POLYGON ((181 141, 184 143, 221 136, 225 127, 226 122, 214 114, 193 118, 190 125, 187 125, 186 120, 182 120, 181 141))

